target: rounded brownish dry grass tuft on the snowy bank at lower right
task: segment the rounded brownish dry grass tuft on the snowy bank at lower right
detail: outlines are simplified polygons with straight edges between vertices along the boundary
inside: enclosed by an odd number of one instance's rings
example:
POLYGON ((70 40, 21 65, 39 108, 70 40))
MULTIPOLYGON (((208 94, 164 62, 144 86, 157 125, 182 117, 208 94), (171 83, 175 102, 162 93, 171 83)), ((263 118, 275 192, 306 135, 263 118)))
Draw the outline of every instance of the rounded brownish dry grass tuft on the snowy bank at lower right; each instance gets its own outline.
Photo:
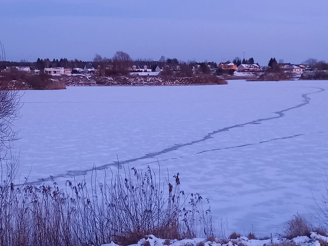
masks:
POLYGON ((311 225, 301 215, 294 215, 285 225, 285 237, 292 239, 297 236, 310 236, 311 225))

